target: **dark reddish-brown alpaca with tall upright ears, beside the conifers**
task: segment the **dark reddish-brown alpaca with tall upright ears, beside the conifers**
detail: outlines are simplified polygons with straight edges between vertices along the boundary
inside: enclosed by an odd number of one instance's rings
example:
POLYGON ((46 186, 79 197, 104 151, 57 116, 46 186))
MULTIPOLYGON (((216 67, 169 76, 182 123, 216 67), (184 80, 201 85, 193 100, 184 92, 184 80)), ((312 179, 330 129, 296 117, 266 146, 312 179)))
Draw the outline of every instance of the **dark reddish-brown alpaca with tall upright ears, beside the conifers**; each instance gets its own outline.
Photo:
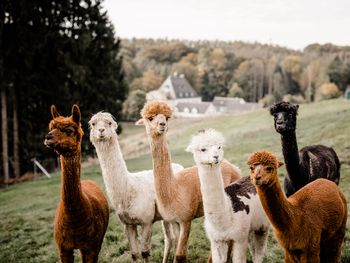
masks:
POLYGON ((73 250, 79 249, 82 262, 97 262, 109 219, 107 199, 91 180, 80 181, 80 154, 83 130, 80 110, 72 108, 72 116, 60 116, 51 106, 52 120, 45 145, 61 159, 62 187, 58 203, 54 237, 61 262, 74 262, 73 250))

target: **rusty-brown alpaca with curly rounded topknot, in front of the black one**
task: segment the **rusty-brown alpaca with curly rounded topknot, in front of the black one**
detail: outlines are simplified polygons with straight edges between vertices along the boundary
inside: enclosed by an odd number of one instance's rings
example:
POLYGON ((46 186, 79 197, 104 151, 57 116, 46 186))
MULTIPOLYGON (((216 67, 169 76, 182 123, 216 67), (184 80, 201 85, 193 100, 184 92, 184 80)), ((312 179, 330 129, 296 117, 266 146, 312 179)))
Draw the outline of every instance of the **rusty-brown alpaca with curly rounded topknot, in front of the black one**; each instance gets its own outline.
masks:
POLYGON ((277 178, 282 163, 272 153, 256 152, 248 165, 285 262, 339 262, 347 207, 337 185, 316 179, 286 198, 277 178))

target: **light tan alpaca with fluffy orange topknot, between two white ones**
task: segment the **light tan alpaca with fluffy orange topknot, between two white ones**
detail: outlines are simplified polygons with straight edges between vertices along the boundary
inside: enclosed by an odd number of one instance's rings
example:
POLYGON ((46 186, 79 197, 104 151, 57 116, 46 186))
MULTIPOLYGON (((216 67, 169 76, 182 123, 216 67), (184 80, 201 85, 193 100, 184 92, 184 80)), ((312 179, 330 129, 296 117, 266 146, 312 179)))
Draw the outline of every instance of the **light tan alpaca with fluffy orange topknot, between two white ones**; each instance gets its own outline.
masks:
MULTIPOLYGON (((174 175, 166 141, 168 120, 172 110, 164 102, 147 103, 137 125, 145 125, 150 142, 154 185, 159 212, 164 220, 180 224, 175 262, 186 262, 187 241, 191 222, 204 215, 197 167, 186 168, 174 175)), ((221 164, 224 185, 241 177, 240 171, 228 162, 221 164)))

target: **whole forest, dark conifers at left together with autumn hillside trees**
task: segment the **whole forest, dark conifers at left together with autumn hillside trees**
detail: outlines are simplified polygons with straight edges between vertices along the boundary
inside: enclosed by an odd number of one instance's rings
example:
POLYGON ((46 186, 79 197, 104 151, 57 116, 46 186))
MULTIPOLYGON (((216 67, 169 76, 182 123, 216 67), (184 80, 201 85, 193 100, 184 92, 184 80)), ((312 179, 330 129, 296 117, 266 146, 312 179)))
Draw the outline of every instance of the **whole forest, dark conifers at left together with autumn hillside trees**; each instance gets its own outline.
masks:
MULTIPOLYGON (((52 104, 67 115, 77 103, 87 134, 101 110, 137 119, 146 92, 174 72, 204 101, 231 96, 264 106, 338 97, 350 84, 350 46, 120 39, 102 3, 0 2, 1 182, 31 174, 33 159, 57 167, 43 145, 52 104)), ((94 155, 86 135, 82 151, 94 155)))

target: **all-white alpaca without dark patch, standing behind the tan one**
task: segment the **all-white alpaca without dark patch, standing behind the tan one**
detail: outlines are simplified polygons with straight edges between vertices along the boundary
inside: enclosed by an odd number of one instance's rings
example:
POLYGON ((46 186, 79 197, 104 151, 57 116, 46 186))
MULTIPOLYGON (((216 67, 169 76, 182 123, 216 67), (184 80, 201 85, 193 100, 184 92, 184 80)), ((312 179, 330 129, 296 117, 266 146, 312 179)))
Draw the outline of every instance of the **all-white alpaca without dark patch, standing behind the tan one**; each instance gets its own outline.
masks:
MULTIPOLYGON (((142 228, 141 255, 147 262, 150 255, 152 225, 162 219, 156 206, 153 171, 136 173, 128 171, 116 133, 118 125, 110 113, 95 114, 90 119, 89 125, 90 141, 96 148, 107 195, 125 225, 132 258, 136 261, 139 255, 137 238, 139 225, 142 228)), ((172 168, 175 171, 184 169, 179 164, 172 164, 172 168)), ((177 241, 178 226, 163 221, 163 231, 165 239, 163 262, 166 262, 172 243, 177 241)))

